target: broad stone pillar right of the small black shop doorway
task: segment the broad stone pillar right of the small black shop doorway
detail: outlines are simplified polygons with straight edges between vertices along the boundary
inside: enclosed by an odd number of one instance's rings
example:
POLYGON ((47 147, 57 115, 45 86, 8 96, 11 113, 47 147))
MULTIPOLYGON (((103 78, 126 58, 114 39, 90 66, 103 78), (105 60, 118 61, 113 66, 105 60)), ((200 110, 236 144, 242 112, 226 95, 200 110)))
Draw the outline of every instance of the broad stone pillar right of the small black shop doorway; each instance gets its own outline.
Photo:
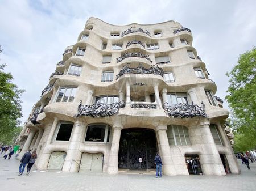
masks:
POLYGON ((210 132, 209 122, 201 121, 198 125, 188 128, 189 137, 193 145, 199 145, 201 168, 204 175, 224 176, 226 172, 221 162, 220 154, 210 132))

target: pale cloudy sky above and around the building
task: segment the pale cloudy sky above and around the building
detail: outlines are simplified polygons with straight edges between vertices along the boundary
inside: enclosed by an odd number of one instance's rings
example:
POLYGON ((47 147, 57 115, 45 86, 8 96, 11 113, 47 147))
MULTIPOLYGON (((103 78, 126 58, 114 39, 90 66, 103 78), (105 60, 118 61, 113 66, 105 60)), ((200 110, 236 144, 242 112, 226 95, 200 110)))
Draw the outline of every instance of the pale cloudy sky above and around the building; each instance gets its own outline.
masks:
MULTIPOLYGON (((205 62, 216 96, 225 99, 240 54, 256 45, 255 0, 60 1, 0 0, 0 64, 19 88, 27 120, 64 49, 77 41, 90 17, 107 23, 154 24, 174 20, 191 29, 192 46, 205 62)), ((224 107, 228 104, 224 100, 224 107)))

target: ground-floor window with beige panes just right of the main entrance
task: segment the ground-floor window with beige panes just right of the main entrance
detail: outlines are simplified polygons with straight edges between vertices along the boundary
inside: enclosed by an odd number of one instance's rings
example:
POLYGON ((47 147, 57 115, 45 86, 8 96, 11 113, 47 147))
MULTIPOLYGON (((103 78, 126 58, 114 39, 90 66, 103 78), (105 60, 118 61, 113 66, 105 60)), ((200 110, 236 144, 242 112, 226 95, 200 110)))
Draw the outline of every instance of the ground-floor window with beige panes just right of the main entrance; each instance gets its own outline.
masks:
POLYGON ((188 128, 181 125, 168 125, 167 137, 169 145, 191 145, 188 128))

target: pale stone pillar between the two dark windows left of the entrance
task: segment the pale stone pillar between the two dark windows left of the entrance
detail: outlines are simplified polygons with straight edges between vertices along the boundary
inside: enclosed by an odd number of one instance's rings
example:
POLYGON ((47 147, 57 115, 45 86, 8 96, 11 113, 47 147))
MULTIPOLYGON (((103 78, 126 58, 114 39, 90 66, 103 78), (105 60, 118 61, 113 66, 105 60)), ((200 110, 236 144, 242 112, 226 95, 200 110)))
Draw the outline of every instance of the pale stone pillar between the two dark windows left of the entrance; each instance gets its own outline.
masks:
POLYGON ((77 119, 73 125, 71 138, 69 139, 69 146, 67 150, 67 156, 63 164, 64 172, 78 172, 81 162, 82 152, 79 151, 80 143, 84 138, 82 132, 85 130, 84 122, 77 119))

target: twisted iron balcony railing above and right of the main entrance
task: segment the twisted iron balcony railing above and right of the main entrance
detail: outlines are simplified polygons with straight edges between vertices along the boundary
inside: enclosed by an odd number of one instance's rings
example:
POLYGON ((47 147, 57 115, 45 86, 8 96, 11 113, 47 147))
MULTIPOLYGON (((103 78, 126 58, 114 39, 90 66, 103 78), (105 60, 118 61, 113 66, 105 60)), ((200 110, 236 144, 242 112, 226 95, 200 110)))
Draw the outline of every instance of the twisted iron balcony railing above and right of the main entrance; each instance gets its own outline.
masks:
POLYGON ((166 110, 168 116, 172 116, 175 118, 188 118, 188 117, 196 117, 196 116, 202 116, 207 117, 207 114, 205 114, 205 105, 203 101, 201 102, 202 107, 199 107, 198 105, 187 105, 187 104, 177 104, 177 105, 168 105, 168 103, 164 103, 164 110, 166 110))

